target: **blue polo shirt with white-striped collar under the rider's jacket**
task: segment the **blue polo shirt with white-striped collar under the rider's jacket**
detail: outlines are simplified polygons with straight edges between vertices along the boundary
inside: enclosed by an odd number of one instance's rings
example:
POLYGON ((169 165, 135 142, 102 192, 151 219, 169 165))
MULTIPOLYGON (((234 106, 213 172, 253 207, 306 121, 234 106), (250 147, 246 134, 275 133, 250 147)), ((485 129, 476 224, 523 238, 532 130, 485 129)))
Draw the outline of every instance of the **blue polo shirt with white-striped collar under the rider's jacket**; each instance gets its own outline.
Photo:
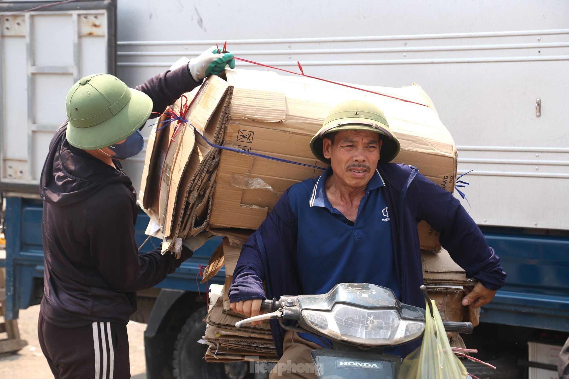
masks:
MULTIPOLYGON (((374 172, 356 222, 351 222, 326 197, 330 175, 331 167, 316 180, 305 180, 288 190, 298 222, 296 258, 303 293, 324 294, 340 283, 372 283, 392 289, 400 298, 383 178, 374 172)), ((321 344, 308 334, 302 338, 321 344)))

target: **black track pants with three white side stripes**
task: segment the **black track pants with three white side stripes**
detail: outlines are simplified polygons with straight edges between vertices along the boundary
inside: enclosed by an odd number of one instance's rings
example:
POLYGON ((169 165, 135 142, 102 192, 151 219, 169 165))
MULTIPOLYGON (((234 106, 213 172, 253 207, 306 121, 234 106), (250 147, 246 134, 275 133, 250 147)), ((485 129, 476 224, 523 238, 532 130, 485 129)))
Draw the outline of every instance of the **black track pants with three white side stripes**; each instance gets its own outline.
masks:
POLYGON ((130 378, 126 325, 94 322, 80 328, 59 328, 40 313, 38 337, 56 379, 130 378))

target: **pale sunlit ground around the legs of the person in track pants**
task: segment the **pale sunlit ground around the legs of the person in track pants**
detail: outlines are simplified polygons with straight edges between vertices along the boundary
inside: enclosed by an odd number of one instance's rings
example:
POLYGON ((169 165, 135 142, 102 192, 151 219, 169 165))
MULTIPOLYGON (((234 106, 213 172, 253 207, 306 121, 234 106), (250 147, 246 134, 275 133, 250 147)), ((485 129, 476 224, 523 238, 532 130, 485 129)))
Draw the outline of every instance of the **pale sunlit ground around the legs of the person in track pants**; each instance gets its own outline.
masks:
MULTIPOLYGON (((22 339, 28 345, 15 354, 0 356, 0 378, 6 379, 53 379, 50 367, 42 354, 38 342, 39 305, 20 310, 18 327, 22 339)), ((3 318, 0 317, 0 322, 3 318)), ((130 374, 133 379, 146 379, 144 356, 144 331, 146 324, 129 322, 126 326, 129 332, 130 345, 130 374)), ((0 339, 6 334, 0 333, 0 339)))

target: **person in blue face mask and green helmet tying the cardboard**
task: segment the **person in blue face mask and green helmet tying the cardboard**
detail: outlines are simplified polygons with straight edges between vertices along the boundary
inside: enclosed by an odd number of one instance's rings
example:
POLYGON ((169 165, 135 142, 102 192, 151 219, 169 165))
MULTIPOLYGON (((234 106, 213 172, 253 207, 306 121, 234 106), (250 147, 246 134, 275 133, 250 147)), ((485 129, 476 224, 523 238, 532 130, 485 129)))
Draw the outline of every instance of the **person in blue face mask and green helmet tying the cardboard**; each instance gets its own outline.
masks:
POLYGON ((42 352, 56 378, 129 378, 126 324, 136 291, 151 288, 192 256, 207 236, 185 240, 182 256, 160 247, 138 255, 138 207, 120 160, 142 151, 140 129, 210 73, 235 63, 211 48, 136 89, 110 74, 69 90, 68 119, 43 166, 44 295, 38 320, 42 352))

